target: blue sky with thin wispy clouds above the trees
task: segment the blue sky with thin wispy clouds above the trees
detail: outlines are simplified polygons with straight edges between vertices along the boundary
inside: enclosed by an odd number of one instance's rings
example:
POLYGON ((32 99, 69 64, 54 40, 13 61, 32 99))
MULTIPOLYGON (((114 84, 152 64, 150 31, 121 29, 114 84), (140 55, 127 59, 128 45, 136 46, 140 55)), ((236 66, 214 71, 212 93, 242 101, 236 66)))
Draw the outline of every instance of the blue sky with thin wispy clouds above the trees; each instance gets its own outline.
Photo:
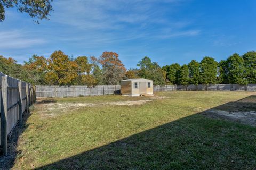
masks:
POLYGON ((126 68, 143 56, 163 66, 204 56, 220 61, 256 50, 256 1, 252 0, 61 0, 50 21, 6 10, 0 23, 0 55, 19 63, 33 54, 119 54, 126 68))

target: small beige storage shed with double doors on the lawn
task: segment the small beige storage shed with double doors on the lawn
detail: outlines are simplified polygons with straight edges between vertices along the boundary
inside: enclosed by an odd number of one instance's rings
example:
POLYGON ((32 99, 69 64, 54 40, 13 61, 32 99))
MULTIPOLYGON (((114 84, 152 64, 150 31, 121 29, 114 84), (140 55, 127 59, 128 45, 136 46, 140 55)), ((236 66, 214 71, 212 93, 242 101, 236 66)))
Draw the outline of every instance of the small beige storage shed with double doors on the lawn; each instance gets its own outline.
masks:
POLYGON ((148 79, 122 80, 121 94, 125 96, 153 95, 153 81, 148 79))

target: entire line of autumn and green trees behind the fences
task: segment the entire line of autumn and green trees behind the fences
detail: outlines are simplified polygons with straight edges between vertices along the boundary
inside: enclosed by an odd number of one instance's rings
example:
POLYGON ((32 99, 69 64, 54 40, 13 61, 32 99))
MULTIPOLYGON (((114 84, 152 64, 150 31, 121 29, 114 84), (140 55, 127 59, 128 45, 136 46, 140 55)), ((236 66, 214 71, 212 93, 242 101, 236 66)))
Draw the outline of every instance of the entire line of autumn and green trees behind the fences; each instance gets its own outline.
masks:
POLYGON ((121 80, 146 78, 154 84, 248 84, 256 83, 256 52, 237 53, 217 62, 206 56, 200 62, 191 60, 160 67, 147 56, 137 68, 127 70, 115 52, 99 57, 68 56, 55 51, 50 57, 33 55, 24 64, 0 56, 0 72, 33 84, 87 85, 119 84, 121 80))

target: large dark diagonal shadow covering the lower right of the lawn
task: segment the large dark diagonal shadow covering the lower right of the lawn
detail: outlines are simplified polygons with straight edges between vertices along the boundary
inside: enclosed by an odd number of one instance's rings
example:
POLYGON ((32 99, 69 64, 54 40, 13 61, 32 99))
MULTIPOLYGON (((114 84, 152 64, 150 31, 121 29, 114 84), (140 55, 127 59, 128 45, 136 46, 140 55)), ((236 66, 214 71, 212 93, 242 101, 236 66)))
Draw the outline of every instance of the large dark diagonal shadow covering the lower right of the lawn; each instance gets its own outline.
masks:
MULTIPOLYGON (((255 97, 208 111, 253 113, 255 97)), ((209 118, 213 113, 208 113, 187 116, 37 169, 254 169, 256 128, 221 116, 209 118)))

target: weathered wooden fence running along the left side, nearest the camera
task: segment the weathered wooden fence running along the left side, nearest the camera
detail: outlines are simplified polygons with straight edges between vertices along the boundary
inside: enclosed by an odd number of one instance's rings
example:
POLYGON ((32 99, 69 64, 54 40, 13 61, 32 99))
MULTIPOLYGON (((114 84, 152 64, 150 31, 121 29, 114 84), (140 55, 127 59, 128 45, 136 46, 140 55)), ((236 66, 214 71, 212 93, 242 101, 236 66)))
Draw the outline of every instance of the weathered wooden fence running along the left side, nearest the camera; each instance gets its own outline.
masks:
POLYGON ((22 125, 22 115, 28 111, 35 99, 35 87, 0 72, 0 108, 1 135, 0 146, 3 154, 7 154, 7 138, 18 124, 22 125))

